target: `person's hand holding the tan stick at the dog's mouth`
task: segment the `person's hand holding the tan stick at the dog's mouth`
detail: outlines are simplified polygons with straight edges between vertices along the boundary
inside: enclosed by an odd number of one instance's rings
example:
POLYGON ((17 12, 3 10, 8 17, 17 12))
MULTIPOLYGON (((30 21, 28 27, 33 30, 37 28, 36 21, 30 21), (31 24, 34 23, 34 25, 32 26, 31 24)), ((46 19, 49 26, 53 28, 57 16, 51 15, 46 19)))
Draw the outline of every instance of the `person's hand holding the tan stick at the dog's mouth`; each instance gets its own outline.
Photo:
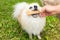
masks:
POLYGON ((42 17, 56 14, 56 6, 46 5, 42 7, 40 15, 42 17))

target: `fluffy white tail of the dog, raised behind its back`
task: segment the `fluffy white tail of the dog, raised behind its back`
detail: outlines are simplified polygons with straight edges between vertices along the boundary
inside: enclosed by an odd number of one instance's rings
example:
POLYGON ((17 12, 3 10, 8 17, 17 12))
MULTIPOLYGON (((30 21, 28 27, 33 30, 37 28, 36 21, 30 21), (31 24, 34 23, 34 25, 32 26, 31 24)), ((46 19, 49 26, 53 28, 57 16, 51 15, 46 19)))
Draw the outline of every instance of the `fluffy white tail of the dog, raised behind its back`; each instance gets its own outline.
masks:
POLYGON ((28 4, 26 2, 18 3, 14 6, 14 18, 17 18, 21 14, 21 10, 24 10, 28 4))

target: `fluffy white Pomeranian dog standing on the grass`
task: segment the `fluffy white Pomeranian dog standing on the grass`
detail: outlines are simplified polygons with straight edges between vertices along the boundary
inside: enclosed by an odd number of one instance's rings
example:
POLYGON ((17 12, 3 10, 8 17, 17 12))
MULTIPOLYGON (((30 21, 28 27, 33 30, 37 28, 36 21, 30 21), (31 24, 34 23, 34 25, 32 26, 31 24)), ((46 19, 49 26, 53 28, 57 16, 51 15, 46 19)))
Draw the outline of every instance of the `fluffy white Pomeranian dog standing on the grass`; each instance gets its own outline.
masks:
POLYGON ((14 18, 22 25, 22 29, 29 34, 30 39, 32 39, 32 34, 41 39, 40 32, 45 26, 46 17, 40 17, 40 11, 41 7, 37 3, 22 2, 14 7, 14 18))

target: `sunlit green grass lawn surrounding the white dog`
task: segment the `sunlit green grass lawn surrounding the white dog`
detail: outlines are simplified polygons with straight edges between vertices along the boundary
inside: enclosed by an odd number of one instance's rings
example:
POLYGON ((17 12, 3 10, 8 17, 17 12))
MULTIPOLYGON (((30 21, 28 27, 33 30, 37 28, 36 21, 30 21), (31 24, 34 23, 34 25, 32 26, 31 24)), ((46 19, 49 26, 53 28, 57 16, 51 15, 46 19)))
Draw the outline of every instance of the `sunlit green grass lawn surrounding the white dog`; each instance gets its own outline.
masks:
MULTIPOLYGON (((28 34, 12 18, 13 5, 18 2, 37 2, 41 5, 39 0, 0 0, 0 40, 29 40, 28 34)), ((41 37, 41 40, 60 40, 60 20, 55 16, 47 17, 41 37)), ((37 40, 36 36, 33 39, 37 40)))

